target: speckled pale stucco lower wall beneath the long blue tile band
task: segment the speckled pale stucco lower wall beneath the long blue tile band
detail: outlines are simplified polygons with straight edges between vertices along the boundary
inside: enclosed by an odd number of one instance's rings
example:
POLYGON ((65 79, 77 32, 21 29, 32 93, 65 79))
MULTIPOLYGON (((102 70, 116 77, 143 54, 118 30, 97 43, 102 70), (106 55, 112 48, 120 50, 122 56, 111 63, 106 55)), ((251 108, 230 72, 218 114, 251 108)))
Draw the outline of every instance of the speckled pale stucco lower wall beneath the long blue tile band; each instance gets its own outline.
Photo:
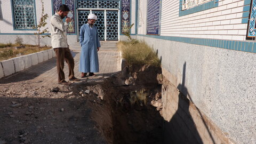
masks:
POLYGON ((158 51, 162 67, 174 77, 169 79, 172 84, 182 84, 185 75, 185 87, 191 100, 228 137, 236 143, 255 142, 255 53, 143 36, 138 39, 158 51))

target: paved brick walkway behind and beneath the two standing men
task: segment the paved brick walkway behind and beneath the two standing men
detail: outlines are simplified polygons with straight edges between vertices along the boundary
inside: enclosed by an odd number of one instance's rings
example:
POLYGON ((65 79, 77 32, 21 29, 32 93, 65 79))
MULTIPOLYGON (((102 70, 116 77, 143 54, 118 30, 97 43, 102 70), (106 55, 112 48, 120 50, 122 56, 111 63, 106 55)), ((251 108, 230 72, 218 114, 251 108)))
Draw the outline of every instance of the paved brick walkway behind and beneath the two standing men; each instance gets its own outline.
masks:
MULTIPOLYGON (((78 71, 80 52, 79 50, 74 50, 72 51, 72 54, 75 60, 75 76, 77 78, 81 78, 81 73, 78 71)), ((119 52, 117 52, 116 46, 102 47, 98 52, 98 55, 100 72, 95 73, 97 74, 96 77, 85 77, 82 78, 82 81, 103 81, 103 78, 109 77, 121 70, 119 52)), ((68 66, 66 62, 64 71, 66 81, 68 81, 68 66)), ((39 63, 36 66, 0 79, 0 86, 17 85, 22 83, 30 83, 35 86, 58 85, 56 59, 52 58, 39 63)))

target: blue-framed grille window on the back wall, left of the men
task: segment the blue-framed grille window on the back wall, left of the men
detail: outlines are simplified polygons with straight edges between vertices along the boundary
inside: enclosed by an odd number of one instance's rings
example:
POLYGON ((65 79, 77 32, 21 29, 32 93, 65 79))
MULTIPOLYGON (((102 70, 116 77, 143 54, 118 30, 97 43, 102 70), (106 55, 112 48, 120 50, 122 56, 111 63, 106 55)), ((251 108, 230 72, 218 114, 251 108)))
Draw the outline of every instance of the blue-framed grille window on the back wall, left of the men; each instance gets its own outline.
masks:
POLYGON ((12 0, 14 29, 35 29, 35 0, 12 0))

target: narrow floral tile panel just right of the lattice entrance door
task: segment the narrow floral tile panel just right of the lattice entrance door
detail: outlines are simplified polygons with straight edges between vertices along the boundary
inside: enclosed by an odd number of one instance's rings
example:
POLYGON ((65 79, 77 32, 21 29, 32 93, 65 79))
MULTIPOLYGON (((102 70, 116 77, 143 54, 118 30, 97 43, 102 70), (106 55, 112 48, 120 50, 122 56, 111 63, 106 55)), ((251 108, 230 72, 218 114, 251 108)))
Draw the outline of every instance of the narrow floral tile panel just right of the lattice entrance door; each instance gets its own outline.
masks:
POLYGON ((122 0, 122 33, 129 31, 130 27, 130 0, 122 0))

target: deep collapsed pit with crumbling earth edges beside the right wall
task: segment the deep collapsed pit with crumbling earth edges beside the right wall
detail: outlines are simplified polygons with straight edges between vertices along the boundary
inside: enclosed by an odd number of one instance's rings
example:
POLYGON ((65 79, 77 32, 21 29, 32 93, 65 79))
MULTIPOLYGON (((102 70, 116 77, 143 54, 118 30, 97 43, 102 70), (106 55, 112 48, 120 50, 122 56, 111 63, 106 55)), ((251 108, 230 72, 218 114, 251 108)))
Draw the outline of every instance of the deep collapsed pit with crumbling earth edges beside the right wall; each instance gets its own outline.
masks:
POLYGON ((101 83, 74 87, 107 143, 163 143, 161 68, 126 68, 101 83))

